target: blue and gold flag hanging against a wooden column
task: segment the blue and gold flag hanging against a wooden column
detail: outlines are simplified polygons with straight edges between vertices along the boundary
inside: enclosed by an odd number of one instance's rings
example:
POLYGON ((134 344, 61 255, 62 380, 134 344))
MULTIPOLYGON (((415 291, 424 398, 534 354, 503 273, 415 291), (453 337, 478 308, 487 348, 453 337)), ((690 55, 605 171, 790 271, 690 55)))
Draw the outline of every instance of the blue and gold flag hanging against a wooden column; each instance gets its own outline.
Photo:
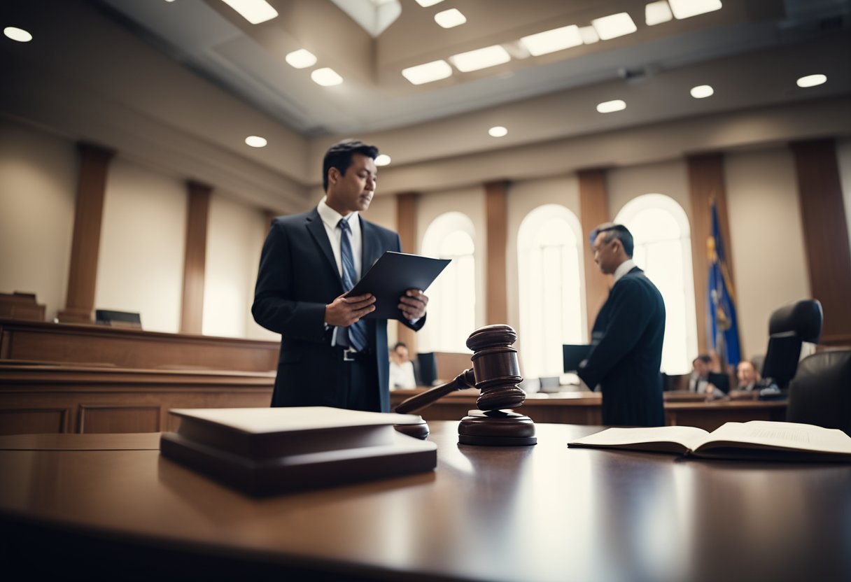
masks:
POLYGON ((739 349, 739 325, 736 322, 735 294, 721 229, 718 227, 718 212, 712 201, 712 232, 707 241, 709 252, 709 317, 712 328, 712 347, 722 362, 733 366, 741 359, 739 349))

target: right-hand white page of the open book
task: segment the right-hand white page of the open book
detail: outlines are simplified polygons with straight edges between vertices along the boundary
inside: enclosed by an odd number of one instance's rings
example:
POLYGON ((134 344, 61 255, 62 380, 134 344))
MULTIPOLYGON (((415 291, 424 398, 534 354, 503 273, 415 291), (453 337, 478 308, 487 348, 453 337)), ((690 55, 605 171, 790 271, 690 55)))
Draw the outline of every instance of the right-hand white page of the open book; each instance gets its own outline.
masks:
POLYGON ((706 436, 693 449, 729 447, 731 444, 851 454, 851 437, 842 431, 774 420, 728 422, 706 436))

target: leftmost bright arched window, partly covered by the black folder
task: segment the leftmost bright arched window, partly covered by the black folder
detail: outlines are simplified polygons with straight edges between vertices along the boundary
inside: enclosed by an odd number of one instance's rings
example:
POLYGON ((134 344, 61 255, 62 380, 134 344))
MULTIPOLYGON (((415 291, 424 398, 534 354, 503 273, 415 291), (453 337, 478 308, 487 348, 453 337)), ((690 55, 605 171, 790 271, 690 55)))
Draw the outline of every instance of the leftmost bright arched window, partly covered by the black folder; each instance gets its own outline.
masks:
POLYGON ((428 288, 420 351, 469 351, 465 342, 476 320, 475 234, 472 221, 460 212, 441 214, 426 229, 422 253, 452 262, 428 288))

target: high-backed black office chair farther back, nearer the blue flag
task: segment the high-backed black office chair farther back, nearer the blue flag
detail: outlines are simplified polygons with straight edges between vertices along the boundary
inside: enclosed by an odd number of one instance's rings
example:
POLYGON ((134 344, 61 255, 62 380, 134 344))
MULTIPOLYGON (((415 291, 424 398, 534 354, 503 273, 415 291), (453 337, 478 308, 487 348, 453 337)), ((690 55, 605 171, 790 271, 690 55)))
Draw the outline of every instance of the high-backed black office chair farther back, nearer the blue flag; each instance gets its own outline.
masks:
POLYGON ((760 397, 780 396, 789 387, 801 358, 802 343, 819 343, 823 319, 819 300, 795 301, 771 314, 760 397))

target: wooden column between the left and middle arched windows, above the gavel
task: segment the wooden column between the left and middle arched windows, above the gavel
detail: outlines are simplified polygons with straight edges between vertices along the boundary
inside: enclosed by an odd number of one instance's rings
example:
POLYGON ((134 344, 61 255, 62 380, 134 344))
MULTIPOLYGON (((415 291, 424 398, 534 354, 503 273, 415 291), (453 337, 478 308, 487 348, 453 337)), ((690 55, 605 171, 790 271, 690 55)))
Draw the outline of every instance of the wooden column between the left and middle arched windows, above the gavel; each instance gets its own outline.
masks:
POLYGON ((508 281, 505 254, 508 245, 508 182, 488 182, 485 188, 485 216, 488 239, 488 264, 485 276, 485 323, 508 322, 508 281))

